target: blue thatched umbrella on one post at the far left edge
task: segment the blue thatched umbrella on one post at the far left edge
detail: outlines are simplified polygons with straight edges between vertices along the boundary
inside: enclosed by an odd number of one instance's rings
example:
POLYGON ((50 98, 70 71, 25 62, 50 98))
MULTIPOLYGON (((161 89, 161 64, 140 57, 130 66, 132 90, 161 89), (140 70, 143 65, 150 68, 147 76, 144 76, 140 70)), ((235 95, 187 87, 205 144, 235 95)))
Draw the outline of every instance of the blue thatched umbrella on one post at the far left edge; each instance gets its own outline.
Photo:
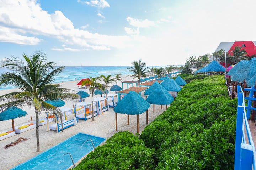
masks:
POLYGON ((12 130, 14 129, 14 119, 26 116, 27 112, 17 107, 9 107, 0 113, 0 121, 12 120, 12 130))

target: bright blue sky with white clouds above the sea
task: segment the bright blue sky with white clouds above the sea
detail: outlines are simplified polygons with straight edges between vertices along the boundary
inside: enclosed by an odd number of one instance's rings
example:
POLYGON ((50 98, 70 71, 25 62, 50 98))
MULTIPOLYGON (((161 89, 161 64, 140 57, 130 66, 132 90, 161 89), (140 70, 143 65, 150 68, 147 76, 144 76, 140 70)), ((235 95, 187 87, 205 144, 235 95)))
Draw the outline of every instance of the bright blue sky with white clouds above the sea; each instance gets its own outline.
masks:
POLYGON ((0 59, 42 50, 58 66, 184 64, 256 40, 255 0, 0 0, 0 59))

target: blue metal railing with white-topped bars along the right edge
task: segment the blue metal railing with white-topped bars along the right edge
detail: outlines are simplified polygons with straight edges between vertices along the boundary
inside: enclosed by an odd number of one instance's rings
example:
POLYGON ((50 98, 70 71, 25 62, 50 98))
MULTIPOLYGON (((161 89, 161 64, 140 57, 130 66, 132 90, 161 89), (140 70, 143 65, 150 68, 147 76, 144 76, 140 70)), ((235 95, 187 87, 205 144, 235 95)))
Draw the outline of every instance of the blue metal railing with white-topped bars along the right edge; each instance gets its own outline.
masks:
POLYGON ((256 110, 252 107, 254 88, 244 88, 245 91, 250 91, 249 97, 244 97, 244 92, 240 85, 238 89, 238 107, 236 118, 236 141, 235 141, 235 170, 256 170, 256 151, 251 135, 251 130, 247 118, 250 118, 251 110, 256 110), (245 106, 245 99, 248 100, 248 106, 245 106), (246 112, 247 109, 247 112, 246 112), (246 142, 244 122, 248 137, 246 142))

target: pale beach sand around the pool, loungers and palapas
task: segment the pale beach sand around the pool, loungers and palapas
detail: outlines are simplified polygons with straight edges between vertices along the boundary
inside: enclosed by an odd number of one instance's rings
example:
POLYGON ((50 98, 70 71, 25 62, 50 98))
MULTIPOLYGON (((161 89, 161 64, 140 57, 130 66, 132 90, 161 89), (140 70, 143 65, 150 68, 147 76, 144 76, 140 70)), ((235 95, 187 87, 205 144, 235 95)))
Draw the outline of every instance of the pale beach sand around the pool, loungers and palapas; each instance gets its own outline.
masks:
MULTIPOLYGON (((131 80, 130 77, 123 76, 123 81, 125 80, 131 80)), ((80 80, 76 81, 66 81, 64 83, 60 83, 62 87, 69 88, 72 90, 77 90, 78 86, 76 84, 80 80)), ((118 82, 118 85, 122 87, 121 82, 118 82)), ((126 88, 125 86, 124 88, 126 88)), ((17 89, 7 89, 7 90, 1 90, 0 95, 17 91, 17 89)), ((113 93, 113 92, 110 92, 113 93)), ((100 97, 100 95, 95 95, 95 97, 100 97)), ((144 97, 142 95, 142 97, 144 97)), ((145 97, 144 97, 145 98, 145 97)), ((92 101, 91 97, 87 97, 85 101, 92 101)), ((78 103, 79 101, 65 101, 65 107, 73 107, 74 103, 78 103)), ((29 107, 24 107, 24 109, 28 115, 22 118, 14 119, 15 126, 30 122, 30 117, 32 116, 32 120, 35 120, 35 114, 34 110, 29 107)), ((153 121, 158 115, 162 114, 162 112, 165 111, 165 106, 160 108, 160 106, 155 106, 155 112, 153 112, 153 106, 149 108, 149 122, 153 121)), ((84 120, 78 120, 77 126, 72 126, 70 128, 64 129, 64 132, 56 133, 56 131, 46 131, 46 125, 39 126, 40 128, 40 148, 41 152, 46 151, 47 149, 57 145, 58 143, 66 140, 67 138, 74 136, 75 134, 82 132, 90 135, 96 135, 100 137, 109 138, 114 133, 116 133, 115 130, 115 114, 113 111, 113 108, 110 108, 110 111, 104 112, 105 114, 101 114, 99 116, 95 117, 95 121, 92 122, 91 119, 84 121, 84 120)), ((45 113, 42 113, 40 115, 41 118, 46 117, 45 113)), ((72 119, 73 116, 69 116, 68 120, 72 119)), ((52 122, 50 124, 54 124, 55 122, 52 122)), ((142 130, 146 126, 146 113, 143 113, 139 115, 139 131, 142 132, 142 130)), ((0 122, 0 132, 4 130, 11 130, 12 124, 11 120, 7 121, 1 121, 0 122)), ((132 133, 137 133, 137 116, 136 115, 130 115, 130 122, 129 125, 127 125, 127 115, 124 114, 118 114, 118 131, 130 131, 132 133)), ((36 129, 28 130, 26 132, 23 132, 22 134, 16 134, 15 136, 9 137, 7 139, 0 141, 0 163, 1 168, 0 169, 10 169, 13 168, 23 162, 25 162, 28 159, 33 158, 36 156, 36 129), (10 142, 13 142, 17 140, 19 137, 23 138, 30 138, 27 141, 21 142, 16 146, 4 149, 4 146, 9 144, 10 142)))

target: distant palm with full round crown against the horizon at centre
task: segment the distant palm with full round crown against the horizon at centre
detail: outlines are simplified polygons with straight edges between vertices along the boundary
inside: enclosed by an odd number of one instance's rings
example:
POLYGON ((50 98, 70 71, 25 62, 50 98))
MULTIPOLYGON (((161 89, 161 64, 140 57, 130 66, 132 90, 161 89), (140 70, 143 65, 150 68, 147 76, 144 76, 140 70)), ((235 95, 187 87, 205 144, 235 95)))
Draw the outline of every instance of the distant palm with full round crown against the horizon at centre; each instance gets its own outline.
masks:
POLYGON ((140 78, 145 78, 150 74, 148 71, 149 67, 146 67, 146 63, 142 62, 141 59, 139 61, 132 62, 132 66, 127 67, 127 69, 133 73, 130 75, 130 77, 134 77, 133 80, 135 78, 138 79, 138 84, 140 83, 140 78))

